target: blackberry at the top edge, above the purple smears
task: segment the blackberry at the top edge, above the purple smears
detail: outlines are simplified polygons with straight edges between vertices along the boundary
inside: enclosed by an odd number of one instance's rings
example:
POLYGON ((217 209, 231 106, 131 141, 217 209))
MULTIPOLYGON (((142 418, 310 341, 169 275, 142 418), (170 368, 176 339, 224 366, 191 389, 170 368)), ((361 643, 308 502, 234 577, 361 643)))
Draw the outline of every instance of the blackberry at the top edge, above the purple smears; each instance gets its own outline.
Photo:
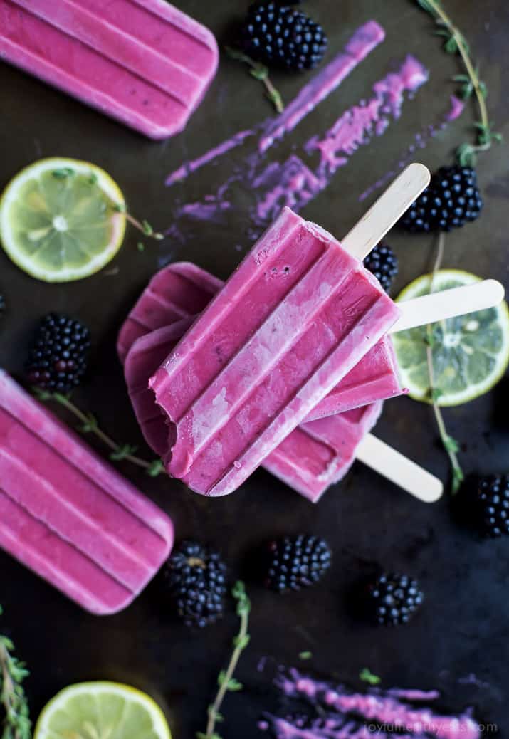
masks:
POLYGON ((327 49, 323 28, 311 18, 276 2, 250 5, 241 44, 265 64, 301 72, 319 64, 327 49))

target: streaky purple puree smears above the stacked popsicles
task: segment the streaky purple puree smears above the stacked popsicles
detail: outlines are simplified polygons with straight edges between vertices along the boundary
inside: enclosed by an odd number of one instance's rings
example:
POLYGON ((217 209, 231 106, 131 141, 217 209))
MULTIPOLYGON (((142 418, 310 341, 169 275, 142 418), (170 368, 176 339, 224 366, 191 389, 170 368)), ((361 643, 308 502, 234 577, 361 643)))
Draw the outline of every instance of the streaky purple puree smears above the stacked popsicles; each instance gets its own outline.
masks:
MULTIPOLYGON (((250 151, 233 166, 228 179, 216 186, 215 191, 196 202, 174 201, 172 225, 167 233, 184 243, 192 238, 192 222, 213 222, 227 227, 232 212, 242 207, 245 221, 250 222, 247 237, 252 241, 284 205, 300 211, 314 200, 327 188, 338 168, 349 162, 355 151, 368 145, 374 137, 380 137, 393 120, 400 118, 405 101, 413 98, 426 83, 428 72, 417 58, 408 55, 395 63, 391 72, 375 82, 369 99, 361 100, 344 111, 329 129, 312 136, 304 146, 294 146, 289 157, 283 160, 273 158, 267 162, 265 154, 338 89, 384 38, 383 28, 376 21, 368 21, 355 31, 344 50, 287 104, 281 115, 235 134, 169 174, 166 179, 168 187, 182 183, 203 166, 213 166, 219 158, 256 138, 254 151, 251 144, 250 151)), ((423 149, 428 140, 445 129, 448 122, 461 115, 461 112, 461 101, 451 98, 451 107, 439 123, 417 132, 390 171, 368 188, 360 200, 369 197, 391 180, 397 171, 414 158, 417 149, 423 149)), ((236 248, 242 249, 242 245, 236 245, 236 248)))

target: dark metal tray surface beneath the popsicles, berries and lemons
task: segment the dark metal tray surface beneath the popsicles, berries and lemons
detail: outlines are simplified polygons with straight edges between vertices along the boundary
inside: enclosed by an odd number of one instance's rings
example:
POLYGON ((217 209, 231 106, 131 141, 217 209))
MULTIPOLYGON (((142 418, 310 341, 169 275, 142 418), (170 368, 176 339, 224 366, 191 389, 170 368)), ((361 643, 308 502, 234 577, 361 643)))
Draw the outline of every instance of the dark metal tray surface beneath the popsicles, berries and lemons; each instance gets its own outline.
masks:
MULTIPOLYGON (((180 0, 183 10, 203 21, 219 39, 242 16, 242 4, 216 0, 180 0)), ((509 133, 507 37, 509 10, 503 0, 448 0, 452 16, 465 31, 479 59, 490 90, 491 117, 509 133)), ((414 53, 431 70, 428 84, 383 137, 358 151, 338 171, 330 187, 303 214, 341 236, 361 215, 358 194, 383 175, 411 143, 423 124, 434 123, 448 106, 448 79, 459 72, 457 61, 440 51, 425 13, 410 0, 316 0, 308 10, 321 20, 330 37, 329 58, 340 50, 352 30, 369 18, 386 29, 387 38, 281 147, 303 143, 317 124, 332 122, 347 107, 367 95, 394 57, 414 53)), ((284 97, 297 92, 304 78, 275 75, 284 97)), ((222 61, 205 102, 188 128, 165 143, 151 143, 21 72, 0 64, 1 120, 0 183, 39 157, 83 158, 106 168, 123 188, 131 211, 157 228, 167 228, 175 196, 163 182, 169 171, 196 157, 226 137, 271 115, 261 88, 244 68, 222 61)), ((450 160, 451 150, 468 138, 472 111, 441 133, 421 159, 430 168, 450 160)), ((271 154, 269 154, 269 157, 271 154)), ((236 153, 217 167, 204 169, 180 189, 194 200, 227 177, 236 153)), ((459 266, 482 276, 494 276, 509 287, 507 151, 488 153, 479 163, 486 197, 485 213, 474 225, 447 239, 445 266, 459 266)), ((95 412, 115 437, 140 443, 115 354, 115 336, 123 316, 160 259, 191 259, 221 277, 239 261, 234 245, 246 230, 242 210, 228 230, 197 229, 184 245, 148 242, 139 253, 138 235, 129 230, 114 265, 71 285, 45 285, 21 273, 0 253, 0 293, 7 314, 0 324, 0 364, 19 372, 36 319, 49 310, 78 316, 92 328, 92 373, 76 393, 82 406, 95 412)), ((400 257, 396 288, 406 285, 430 265, 428 237, 394 233, 390 239, 400 257)), ((509 424, 507 384, 466 406, 446 411, 451 433, 464 445, 462 462, 468 470, 507 471, 509 424)), ((378 435, 445 479, 445 455, 436 443, 428 407, 405 398, 386 403, 378 435)), ((256 672, 262 655, 295 664, 301 650, 311 650, 312 666, 335 671, 355 681, 363 666, 383 676, 384 684, 439 687, 445 702, 461 707, 473 702, 479 715, 508 728, 507 678, 508 542, 476 542, 451 521, 448 498, 427 507, 397 490, 360 464, 344 483, 332 488, 312 507, 258 471, 231 497, 204 500, 177 481, 150 480, 125 464, 122 471, 174 519, 177 536, 191 535, 217 545, 233 574, 265 537, 282 532, 312 531, 332 545, 334 566, 326 581, 311 593, 278 598, 250 585, 253 598, 250 650, 242 659, 242 693, 225 704, 226 739, 250 739, 259 732, 256 717, 270 691, 267 678, 256 672), (374 630, 351 619, 345 609, 346 590, 366 570, 366 561, 409 571, 422 580, 426 607, 413 624, 400 630, 374 630), (460 687, 458 681, 475 672, 490 687, 460 687)), ((236 621, 230 613, 219 625, 194 634, 165 610, 151 587, 126 612, 99 619, 88 616, 29 571, 0 554, 2 624, 16 638, 18 651, 30 665, 28 683, 34 715, 66 684, 93 678, 126 681, 151 692, 168 710, 176 739, 191 739, 205 724, 205 709, 215 691, 216 674, 230 649, 236 621)))

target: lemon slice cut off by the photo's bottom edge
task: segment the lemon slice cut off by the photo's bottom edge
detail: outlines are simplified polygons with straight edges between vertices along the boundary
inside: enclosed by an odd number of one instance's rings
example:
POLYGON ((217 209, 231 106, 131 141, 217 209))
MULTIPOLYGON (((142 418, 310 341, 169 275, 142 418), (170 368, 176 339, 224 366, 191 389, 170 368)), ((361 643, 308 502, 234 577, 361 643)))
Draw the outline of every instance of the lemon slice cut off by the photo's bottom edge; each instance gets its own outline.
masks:
POLYGON ((44 707, 34 739, 171 739, 163 711, 120 683, 70 685, 44 707))

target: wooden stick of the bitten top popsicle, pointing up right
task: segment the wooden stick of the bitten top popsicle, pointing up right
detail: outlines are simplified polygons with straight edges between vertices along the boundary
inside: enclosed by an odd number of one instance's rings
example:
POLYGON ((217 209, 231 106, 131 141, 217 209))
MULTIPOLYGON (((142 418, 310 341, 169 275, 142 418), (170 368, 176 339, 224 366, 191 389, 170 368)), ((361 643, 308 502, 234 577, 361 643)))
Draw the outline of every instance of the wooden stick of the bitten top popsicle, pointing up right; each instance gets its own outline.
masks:
POLYGON ((423 164, 409 164, 346 234, 341 246, 362 262, 429 185, 430 179, 429 170, 423 164))

